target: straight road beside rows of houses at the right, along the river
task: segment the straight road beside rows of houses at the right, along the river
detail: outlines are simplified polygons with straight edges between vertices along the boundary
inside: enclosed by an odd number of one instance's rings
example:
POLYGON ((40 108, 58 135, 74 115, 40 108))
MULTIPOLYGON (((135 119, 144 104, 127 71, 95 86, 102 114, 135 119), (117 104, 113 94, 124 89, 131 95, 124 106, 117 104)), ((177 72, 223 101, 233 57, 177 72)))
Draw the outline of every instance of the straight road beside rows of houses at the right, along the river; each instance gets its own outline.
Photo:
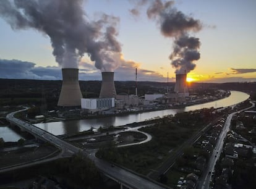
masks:
POLYGON ((245 109, 242 109, 241 111, 233 112, 233 113, 228 115, 228 117, 226 119, 226 122, 224 124, 223 130, 221 131, 221 134, 220 134, 220 136, 218 138, 218 141, 216 143, 216 147, 215 147, 215 149, 213 149, 211 157, 208 161, 208 167, 203 172, 202 177, 201 177, 202 179, 200 179, 200 182, 198 182, 198 187, 197 188, 202 188, 202 189, 210 188, 209 185, 210 185, 210 180, 211 180, 211 174, 214 171, 216 161, 219 159, 221 151, 223 149, 223 140, 224 140, 224 138, 226 137, 226 134, 229 131, 229 127, 230 127, 230 124, 231 124, 232 117, 233 117, 233 115, 235 115, 237 113, 240 113, 242 111, 245 111, 245 110, 250 109, 250 108, 255 106, 254 103, 252 103, 252 102, 250 102, 250 103, 252 104, 252 106, 247 107, 245 109))

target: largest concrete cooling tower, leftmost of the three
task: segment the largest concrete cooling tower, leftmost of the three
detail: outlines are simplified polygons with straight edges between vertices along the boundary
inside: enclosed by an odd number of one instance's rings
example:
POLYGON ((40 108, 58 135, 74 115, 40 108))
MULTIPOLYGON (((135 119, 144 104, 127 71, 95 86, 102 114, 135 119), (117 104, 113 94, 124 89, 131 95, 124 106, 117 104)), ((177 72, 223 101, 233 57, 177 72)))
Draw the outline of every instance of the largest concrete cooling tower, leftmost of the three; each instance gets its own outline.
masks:
POLYGON ((80 106, 82 93, 79 86, 79 69, 62 69, 62 87, 58 106, 80 106))

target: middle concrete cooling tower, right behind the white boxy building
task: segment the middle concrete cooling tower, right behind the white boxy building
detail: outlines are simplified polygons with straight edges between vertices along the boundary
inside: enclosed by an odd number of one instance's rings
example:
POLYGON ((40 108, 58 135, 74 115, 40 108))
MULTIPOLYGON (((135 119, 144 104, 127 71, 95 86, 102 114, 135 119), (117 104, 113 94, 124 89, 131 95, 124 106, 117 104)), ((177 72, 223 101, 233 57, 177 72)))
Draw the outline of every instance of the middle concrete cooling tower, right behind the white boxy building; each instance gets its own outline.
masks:
POLYGON ((114 72, 101 72, 102 83, 100 98, 116 98, 116 88, 114 87, 114 72))

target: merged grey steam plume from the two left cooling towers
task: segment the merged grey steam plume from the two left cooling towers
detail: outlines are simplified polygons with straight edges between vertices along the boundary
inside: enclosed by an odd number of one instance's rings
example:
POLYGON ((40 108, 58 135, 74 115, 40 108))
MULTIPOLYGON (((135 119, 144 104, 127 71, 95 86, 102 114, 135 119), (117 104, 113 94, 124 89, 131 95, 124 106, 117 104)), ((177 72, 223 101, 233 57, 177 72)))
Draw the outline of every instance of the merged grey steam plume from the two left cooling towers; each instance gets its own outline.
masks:
POLYGON ((116 40, 119 19, 103 14, 90 21, 83 0, 0 1, 0 16, 12 29, 34 28, 51 39, 56 62, 64 68, 77 68, 87 53, 100 70, 112 71, 118 63, 111 58, 121 52, 116 40))

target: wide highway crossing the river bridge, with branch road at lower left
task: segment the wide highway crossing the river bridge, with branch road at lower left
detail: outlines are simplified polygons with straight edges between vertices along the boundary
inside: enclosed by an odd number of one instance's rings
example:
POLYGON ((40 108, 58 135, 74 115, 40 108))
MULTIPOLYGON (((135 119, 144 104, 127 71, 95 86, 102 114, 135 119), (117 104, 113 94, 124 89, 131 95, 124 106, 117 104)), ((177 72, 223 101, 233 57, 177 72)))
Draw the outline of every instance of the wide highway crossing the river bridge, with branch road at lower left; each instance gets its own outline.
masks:
MULTIPOLYGON (((103 161, 102 159, 98 159, 95 156, 92 156, 92 154, 88 153, 87 151, 83 151, 81 148, 77 148, 74 145, 71 145, 70 143, 67 143, 64 140, 59 139, 57 136, 52 135, 51 133, 46 132, 45 130, 42 130, 41 128, 35 127, 35 125, 29 124, 27 122, 24 122, 23 120, 17 119, 14 117, 14 114, 17 112, 25 111, 28 107, 25 109, 22 109, 20 111, 12 112, 6 116, 6 119, 11 123, 15 125, 19 125, 19 127, 22 127, 24 130, 27 130, 28 132, 32 133, 38 138, 42 138, 43 140, 48 141, 49 143, 52 143, 55 146, 58 146, 62 150, 63 154, 64 152, 69 152, 70 154, 78 153, 79 151, 82 151, 82 154, 86 157, 89 157, 92 159, 92 161, 95 162, 96 167, 100 170, 100 172, 103 172, 106 176, 110 177, 113 180, 116 180, 119 183, 122 183, 124 186, 128 188, 138 188, 138 189, 158 189, 158 188, 168 188, 164 187, 160 183, 156 183, 153 180, 146 179, 145 177, 140 177, 140 175, 137 175, 133 172, 129 172, 126 169, 122 169, 121 167, 114 166, 110 164, 109 162, 103 161)), ((58 157, 54 157, 58 159, 58 157)), ((53 159, 51 159, 53 160, 53 159)), ((26 166, 32 166, 36 163, 41 163, 47 161, 47 159, 42 160, 40 162, 31 162, 30 164, 23 164, 21 167, 26 166)), ((8 170, 14 170, 20 168, 19 166, 12 166, 6 169, 1 169, 0 172, 8 171, 8 170)), ((90 173, 88 173, 90 174, 90 173)))

